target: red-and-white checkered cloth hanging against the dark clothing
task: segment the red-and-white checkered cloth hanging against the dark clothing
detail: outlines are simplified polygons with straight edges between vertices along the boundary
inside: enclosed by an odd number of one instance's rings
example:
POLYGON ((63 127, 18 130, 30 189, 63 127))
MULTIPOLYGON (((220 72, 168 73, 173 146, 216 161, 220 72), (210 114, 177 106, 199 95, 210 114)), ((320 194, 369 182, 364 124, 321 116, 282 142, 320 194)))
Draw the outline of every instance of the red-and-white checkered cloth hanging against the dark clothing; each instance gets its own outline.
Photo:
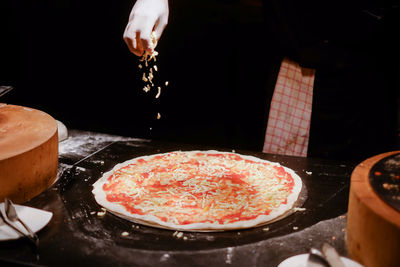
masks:
POLYGON ((285 58, 272 96, 263 152, 307 156, 315 70, 285 58))

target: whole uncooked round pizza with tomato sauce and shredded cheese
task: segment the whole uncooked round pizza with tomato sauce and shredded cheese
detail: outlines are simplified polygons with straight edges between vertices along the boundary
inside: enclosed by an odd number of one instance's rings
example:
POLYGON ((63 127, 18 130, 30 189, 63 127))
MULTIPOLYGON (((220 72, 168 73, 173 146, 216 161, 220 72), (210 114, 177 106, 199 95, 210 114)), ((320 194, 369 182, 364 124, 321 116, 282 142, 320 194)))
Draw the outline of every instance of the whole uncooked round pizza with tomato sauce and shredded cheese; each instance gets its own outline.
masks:
POLYGON ((234 152, 173 151, 117 164, 93 184, 96 201, 133 222, 160 228, 243 229, 295 205, 300 177, 279 163, 234 152))

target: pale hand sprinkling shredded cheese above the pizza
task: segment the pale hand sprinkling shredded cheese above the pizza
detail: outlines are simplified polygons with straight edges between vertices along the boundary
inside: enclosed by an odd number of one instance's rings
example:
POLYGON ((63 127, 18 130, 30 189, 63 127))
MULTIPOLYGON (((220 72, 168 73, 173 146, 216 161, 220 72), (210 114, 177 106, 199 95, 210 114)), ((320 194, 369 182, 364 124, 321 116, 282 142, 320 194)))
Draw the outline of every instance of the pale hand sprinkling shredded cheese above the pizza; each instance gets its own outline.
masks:
POLYGON ((168 0, 137 0, 124 32, 129 50, 137 56, 144 52, 151 55, 157 43, 152 40, 152 32, 158 41, 167 26, 168 15, 168 0))

